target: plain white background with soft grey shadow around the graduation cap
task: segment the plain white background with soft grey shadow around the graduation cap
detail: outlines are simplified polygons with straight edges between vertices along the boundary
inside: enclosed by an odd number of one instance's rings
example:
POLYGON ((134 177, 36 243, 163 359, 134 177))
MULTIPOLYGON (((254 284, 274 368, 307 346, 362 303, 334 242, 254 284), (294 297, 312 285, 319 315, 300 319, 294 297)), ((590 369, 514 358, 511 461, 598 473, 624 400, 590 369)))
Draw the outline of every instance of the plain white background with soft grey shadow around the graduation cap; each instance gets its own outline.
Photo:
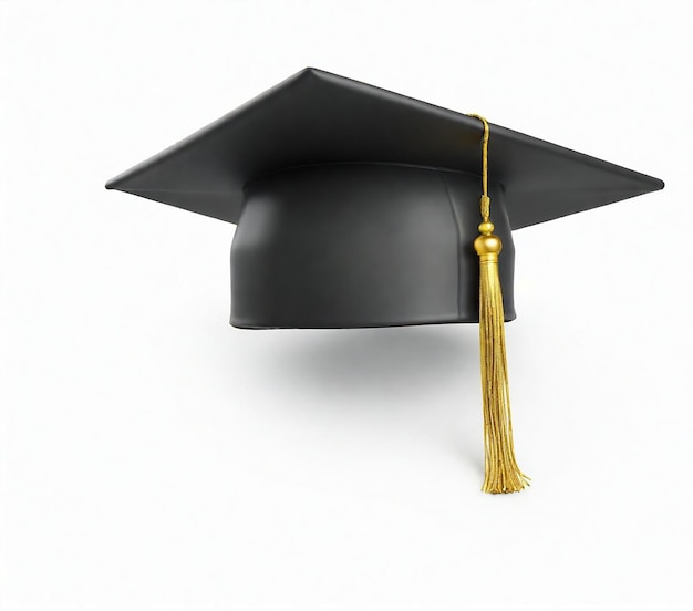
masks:
POLYGON ((0 608, 689 609, 691 3, 0 1, 0 608), (107 178, 313 65, 666 182, 476 325, 240 331, 234 227, 107 178))

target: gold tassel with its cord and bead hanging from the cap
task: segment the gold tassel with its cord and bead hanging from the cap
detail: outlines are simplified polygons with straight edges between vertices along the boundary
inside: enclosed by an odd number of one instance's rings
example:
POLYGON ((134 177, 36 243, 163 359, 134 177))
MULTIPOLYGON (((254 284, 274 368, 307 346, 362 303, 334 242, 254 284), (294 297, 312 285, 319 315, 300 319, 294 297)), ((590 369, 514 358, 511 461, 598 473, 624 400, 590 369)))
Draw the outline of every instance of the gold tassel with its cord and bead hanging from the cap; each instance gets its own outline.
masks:
POLYGON ((529 486, 517 466, 510 418, 510 392, 505 349, 505 314, 498 276, 500 238, 494 235, 488 197, 488 122, 479 115, 469 115, 484 124, 482 143, 482 224, 474 249, 479 256, 479 346, 482 356, 482 395, 484 398, 484 493, 517 493, 529 486))

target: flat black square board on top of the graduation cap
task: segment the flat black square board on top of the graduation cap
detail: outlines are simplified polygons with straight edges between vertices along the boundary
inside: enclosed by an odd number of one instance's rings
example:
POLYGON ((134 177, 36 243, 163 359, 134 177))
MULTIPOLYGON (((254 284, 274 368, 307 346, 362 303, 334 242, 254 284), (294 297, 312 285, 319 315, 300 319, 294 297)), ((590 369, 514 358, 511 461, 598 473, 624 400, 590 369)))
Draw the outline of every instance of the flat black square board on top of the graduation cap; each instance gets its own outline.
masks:
MULTIPOLYGON (((106 184, 238 222, 250 182, 301 166, 387 164, 479 175, 482 124, 307 68, 106 184)), ((661 189, 658 178, 490 125, 489 175, 511 229, 661 189)))

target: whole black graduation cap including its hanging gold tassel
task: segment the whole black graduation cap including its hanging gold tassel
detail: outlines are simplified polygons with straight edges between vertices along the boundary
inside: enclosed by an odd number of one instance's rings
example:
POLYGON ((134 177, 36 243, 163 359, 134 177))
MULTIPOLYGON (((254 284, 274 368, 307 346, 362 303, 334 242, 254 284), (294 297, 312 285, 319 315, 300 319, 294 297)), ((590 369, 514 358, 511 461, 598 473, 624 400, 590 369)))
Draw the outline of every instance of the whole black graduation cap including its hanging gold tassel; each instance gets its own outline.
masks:
POLYGON ((312 68, 106 184, 238 225, 235 327, 479 322, 488 493, 528 480, 503 329, 515 318, 511 230, 663 186, 312 68))

